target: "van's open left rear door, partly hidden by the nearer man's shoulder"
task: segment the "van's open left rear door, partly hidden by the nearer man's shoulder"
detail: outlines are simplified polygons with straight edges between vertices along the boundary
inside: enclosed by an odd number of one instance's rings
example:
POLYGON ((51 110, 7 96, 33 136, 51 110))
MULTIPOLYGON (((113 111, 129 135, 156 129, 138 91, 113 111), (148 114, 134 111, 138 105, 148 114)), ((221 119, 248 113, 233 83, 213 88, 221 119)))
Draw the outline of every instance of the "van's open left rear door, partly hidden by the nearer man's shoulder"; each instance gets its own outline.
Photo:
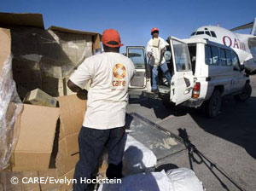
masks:
POLYGON ((127 46, 126 56, 134 64, 136 73, 131 79, 129 90, 147 90, 147 59, 143 46, 127 46))

